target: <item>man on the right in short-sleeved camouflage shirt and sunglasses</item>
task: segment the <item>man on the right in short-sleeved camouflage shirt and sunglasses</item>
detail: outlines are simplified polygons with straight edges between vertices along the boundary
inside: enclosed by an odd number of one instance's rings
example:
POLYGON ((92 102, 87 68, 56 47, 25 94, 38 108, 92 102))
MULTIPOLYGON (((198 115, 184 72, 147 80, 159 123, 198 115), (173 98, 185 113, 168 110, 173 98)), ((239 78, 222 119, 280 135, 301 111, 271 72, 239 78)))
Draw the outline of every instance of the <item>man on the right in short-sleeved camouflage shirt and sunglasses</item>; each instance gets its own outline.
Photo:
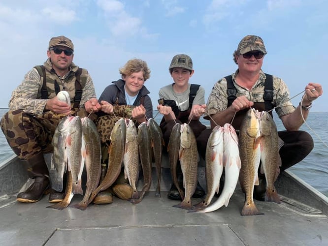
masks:
MULTIPOLYGON (((321 96, 323 91, 320 84, 309 83, 305 86, 302 102, 295 108, 290 101, 291 95, 285 82, 262 71, 266 54, 261 37, 247 35, 241 39, 237 50, 233 53, 233 61, 238 65, 238 69, 214 85, 206 108, 215 123, 224 125, 234 118, 232 125, 239 130, 250 107, 259 111, 269 111, 277 107, 276 113, 287 130, 278 132, 279 137, 285 142, 280 149, 282 160, 280 171, 283 171, 301 161, 313 149, 313 139, 310 134, 298 129, 303 123, 301 113, 306 119, 312 102, 321 96)), ((211 127, 214 127, 215 123, 211 121, 211 127)), ((198 139, 204 146, 210 131, 205 130, 198 139)), ((205 149, 202 144, 199 145, 199 149, 204 155, 205 149)), ((254 196, 264 200, 265 179, 262 174, 259 175, 260 185, 255 186, 254 196)))

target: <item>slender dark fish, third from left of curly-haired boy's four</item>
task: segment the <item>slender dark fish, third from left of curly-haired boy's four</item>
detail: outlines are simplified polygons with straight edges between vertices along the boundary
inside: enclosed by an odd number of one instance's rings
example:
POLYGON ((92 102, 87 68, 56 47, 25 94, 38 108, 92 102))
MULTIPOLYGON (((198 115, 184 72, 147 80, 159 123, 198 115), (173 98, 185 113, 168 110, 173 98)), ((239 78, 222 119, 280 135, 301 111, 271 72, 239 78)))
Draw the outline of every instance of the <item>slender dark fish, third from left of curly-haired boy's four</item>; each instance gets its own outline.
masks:
POLYGON ((143 196, 149 191, 152 184, 152 155, 151 155, 151 136, 146 122, 138 126, 137 141, 141 160, 143 185, 138 199, 131 199, 132 204, 141 202, 143 196))

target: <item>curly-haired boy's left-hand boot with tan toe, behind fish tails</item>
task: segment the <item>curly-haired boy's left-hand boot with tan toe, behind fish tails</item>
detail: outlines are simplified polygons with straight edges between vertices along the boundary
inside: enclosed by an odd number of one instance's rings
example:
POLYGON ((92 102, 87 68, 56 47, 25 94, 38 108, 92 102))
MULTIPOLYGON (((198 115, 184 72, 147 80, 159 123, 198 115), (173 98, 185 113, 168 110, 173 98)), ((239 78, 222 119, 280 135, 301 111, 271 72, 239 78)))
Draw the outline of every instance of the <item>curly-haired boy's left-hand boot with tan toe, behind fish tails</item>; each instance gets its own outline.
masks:
MULTIPOLYGON (((101 146, 101 176, 100 176, 99 184, 103 181, 103 179, 106 176, 107 163, 108 163, 108 146, 103 144, 101 146)), ((111 187, 105 189, 104 191, 99 192, 98 195, 93 200, 93 203, 94 204, 113 203, 113 195, 112 195, 111 187)))

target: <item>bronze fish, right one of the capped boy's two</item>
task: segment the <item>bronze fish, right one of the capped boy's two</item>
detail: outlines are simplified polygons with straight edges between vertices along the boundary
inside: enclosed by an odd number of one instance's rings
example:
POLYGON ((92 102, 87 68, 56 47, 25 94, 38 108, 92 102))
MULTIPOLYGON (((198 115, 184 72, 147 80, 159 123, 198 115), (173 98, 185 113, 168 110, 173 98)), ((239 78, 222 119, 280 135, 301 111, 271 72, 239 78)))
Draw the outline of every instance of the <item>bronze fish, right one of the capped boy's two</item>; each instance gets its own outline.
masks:
POLYGON ((198 152, 195 134, 187 123, 181 126, 179 158, 185 196, 182 202, 174 207, 190 210, 192 208, 191 197, 197 186, 198 152))

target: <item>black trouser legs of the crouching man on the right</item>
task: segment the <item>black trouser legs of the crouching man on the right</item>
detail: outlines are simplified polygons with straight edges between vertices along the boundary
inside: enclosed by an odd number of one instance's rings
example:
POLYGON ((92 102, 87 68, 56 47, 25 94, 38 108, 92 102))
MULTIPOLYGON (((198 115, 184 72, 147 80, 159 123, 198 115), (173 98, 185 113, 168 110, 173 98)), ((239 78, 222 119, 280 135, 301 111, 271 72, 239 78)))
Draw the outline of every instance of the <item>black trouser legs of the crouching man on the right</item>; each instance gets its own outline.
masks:
MULTIPOLYGON (((201 157, 205 159, 206 145, 212 129, 206 129, 197 137, 197 150, 201 157)), ((278 131, 279 137, 285 145, 281 147, 279 154, 281 157, 280 171, 295 165, 304 159, 313 149, 313 139, 305 131, 278 131)))

